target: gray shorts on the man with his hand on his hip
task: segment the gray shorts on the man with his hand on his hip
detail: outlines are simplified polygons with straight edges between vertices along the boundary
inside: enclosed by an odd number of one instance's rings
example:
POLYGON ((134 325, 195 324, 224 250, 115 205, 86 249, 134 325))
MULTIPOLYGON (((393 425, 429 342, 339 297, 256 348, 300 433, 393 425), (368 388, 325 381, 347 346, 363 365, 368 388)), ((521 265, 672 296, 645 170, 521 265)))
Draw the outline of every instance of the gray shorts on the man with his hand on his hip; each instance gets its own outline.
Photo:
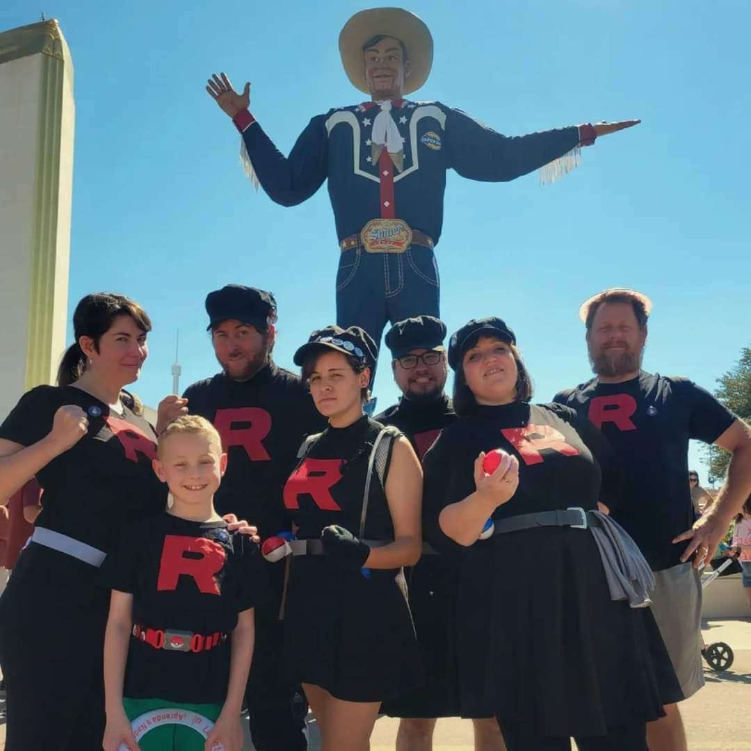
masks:
POLYGON ((654 572, 652 613, 668 649, 683 698, 704 686, 701 666, 701 581, 690 563, 654 572))

